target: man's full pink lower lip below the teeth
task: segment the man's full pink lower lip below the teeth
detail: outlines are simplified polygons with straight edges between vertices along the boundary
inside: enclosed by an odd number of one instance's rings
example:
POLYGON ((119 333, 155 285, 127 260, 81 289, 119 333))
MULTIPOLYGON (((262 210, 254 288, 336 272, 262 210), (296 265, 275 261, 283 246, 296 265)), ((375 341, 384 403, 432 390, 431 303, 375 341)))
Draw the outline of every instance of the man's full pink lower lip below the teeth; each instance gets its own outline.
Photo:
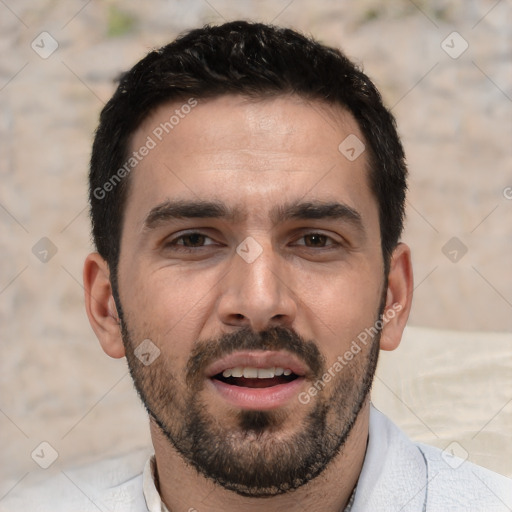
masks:
POLYGON ((233 386, 217 379, 209 379, 215 390, 231 405, 241 409, 265 411, 277 409, 297 398, 304 378, 298 377, 286 384, 268 388, 233 386))

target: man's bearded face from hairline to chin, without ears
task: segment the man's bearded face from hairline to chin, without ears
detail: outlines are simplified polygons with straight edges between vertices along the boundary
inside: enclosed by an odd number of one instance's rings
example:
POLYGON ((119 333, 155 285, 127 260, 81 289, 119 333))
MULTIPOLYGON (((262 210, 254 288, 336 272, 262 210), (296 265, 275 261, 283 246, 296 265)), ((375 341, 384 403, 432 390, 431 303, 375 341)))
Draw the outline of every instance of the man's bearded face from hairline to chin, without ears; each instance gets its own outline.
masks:
POLYGON ((375 370, 378 334, 358 339, 385 296, 377 202, 365 153, 338 150, 363 136, 341 108, 229 96, 199 102, 160 141, 180 106, 132 140, 155 144, 130 176, 121 239, 128 364, 186 462, 274 495, 343 449, 375 370))

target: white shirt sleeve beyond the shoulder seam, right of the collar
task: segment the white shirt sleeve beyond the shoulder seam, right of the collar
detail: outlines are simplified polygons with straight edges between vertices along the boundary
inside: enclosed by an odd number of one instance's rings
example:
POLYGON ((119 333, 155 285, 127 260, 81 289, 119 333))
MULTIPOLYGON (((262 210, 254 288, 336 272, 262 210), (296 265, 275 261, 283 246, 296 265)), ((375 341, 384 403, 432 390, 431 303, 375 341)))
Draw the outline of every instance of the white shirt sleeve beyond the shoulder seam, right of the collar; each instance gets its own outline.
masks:
POLYGON ((427 465, 427 511, 512 510, 512 480, 455 456, 417 443, 427 465))

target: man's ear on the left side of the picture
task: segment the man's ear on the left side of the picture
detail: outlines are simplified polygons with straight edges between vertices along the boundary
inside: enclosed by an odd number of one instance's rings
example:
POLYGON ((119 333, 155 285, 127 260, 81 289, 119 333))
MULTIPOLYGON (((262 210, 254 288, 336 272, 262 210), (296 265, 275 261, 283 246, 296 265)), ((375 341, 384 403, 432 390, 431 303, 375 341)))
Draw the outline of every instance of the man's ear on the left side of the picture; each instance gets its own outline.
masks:
POLYGON ((107 262, 91 253, 84 263, 85 309, 101 347, 110 357, 124 357, 119 316, 112 295, 107 262))

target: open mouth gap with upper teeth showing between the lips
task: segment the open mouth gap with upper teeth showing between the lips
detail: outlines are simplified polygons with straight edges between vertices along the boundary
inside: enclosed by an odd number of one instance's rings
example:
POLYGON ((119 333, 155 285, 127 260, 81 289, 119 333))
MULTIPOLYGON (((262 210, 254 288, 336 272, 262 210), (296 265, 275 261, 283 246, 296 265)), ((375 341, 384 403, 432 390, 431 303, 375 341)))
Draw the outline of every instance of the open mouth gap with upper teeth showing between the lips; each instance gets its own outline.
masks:
POLYGON ((288 384, 298 377, 289 368, 254 368, 250 366, 228 368, 213 376, 214 379, 230 386, 245 388, 270 388, 288 384))

